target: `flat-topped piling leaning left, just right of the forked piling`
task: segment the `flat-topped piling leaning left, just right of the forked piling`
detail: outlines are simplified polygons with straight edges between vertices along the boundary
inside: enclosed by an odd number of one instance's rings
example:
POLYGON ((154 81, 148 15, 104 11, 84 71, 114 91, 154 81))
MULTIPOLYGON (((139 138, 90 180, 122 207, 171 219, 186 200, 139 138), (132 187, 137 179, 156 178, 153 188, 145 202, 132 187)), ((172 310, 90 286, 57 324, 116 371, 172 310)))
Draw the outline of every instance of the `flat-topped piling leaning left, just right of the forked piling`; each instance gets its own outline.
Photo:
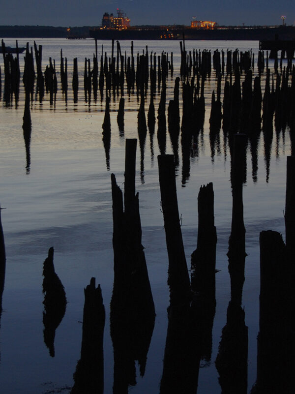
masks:
POLYGON ((161 205, 169 258, 168 284, 171 304, 190 300, 190 281, 184 254, 177 204, 174 156, 158 155, 161 205))

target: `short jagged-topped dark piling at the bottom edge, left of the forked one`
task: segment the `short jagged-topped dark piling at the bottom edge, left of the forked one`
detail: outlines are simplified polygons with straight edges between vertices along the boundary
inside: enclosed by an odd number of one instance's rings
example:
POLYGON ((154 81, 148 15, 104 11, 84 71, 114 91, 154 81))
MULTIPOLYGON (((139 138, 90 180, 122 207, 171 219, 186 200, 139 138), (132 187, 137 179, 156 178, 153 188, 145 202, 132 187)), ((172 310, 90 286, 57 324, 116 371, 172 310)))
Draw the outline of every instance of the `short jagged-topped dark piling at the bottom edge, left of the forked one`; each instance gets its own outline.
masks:
POLYGON ((103 394, 105 308, 100 285, 95 288, 95 278, 91 278, 84 294, 81 358, 74 373, 71 394, 103 394))

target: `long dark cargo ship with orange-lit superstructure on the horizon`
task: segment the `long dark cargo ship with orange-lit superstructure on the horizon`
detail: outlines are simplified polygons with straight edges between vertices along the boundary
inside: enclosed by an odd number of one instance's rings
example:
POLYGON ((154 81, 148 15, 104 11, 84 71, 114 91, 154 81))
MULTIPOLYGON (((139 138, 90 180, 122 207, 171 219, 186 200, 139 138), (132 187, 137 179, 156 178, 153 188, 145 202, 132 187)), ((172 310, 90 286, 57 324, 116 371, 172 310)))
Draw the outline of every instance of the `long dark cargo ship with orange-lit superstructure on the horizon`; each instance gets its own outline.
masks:
POLYGON ((275 26, 218 26, 216 22, 197 21, 190 26, 130 26, 130 19, 117 9, 118 16, 105 13, 100 27, 89 30, 89 36, 99 40, 295 40, 295 27, 275 26))

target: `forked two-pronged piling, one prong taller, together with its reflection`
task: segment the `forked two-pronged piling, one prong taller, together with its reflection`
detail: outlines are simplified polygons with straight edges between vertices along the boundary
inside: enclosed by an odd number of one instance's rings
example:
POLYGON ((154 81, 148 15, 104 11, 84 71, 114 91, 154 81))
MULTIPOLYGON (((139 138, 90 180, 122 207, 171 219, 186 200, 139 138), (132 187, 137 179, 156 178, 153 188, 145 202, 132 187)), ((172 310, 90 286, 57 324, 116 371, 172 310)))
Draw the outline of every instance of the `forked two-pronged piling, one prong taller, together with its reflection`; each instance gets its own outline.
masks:
POLYGON ((111 336, 114 346, 113 393, 136 384, 135 360, 145 373, 155 309, 141 243, 138 193, 135 195, 136 140, 126 140, 124 203, 112 174, 114 287, 111 336), (124 205, 124 208, 123 208, 124 205))

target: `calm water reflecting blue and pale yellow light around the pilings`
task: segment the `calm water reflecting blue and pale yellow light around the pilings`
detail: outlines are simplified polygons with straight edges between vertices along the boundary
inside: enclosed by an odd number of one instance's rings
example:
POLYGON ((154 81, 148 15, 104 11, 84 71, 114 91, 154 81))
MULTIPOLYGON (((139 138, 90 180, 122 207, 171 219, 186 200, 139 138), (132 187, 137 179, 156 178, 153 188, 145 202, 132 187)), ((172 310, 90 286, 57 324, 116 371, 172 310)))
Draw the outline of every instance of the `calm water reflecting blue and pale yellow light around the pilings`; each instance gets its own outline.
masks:
MULTIPOLYGON (((91 276, 101 284, 106 308, 104 332, 105 390, 112 393, 113 347, 109 328, 109 304, 113 286, 112 202, 111 173, 115 173, 123 188, 125 138, 137 138, 136 95, 126 96, 125 133, 119 136, 117 125, 118 99, 111 101, 110 170, 106 167, 102 143, 104 101, 84 102, 83 72, 85 57, 92 58, 94 41, 66 39, 35 39, 43 45, 43 71, 49 57, 59 69, 60 49, 68 60, 69 88, 73 58, 78 57, 79 101, 73 103, 69 89, 65 104, 59 81, 55 108, 49 97, 43 104, 34 101, 31 108, 32 132, 30 171, 26 171, 26 152, 22 130, 24 111, 23 88, 19 106, 5 107, 0 101, 0 202, 6 245, 6 277, 3 293, 3 312, 0 327, 0 387, 3 394, 41 394, 53 390, 68 393, 73 385, 73 372, 80 358, 84 287, 91 276), (55 248, 55 268, 67 297, 65 316, 56 331, 54 358, 43 342, 42 265, 50 246, 55 248)), ((5 39, 13 46, 13 39, 5 39)), ((26 39, 19 39, 23 46, 26 39)), ((33 40, 29 40, 33 45, 33 40)), ((98 42, 98 52, 111 55, 111 42, 98 42)), ((167 104, 173 94, 173 81, 180 63, 179 42, 149 41, 148 50, 161 54, 174 52, 175 73, 169 76, 167 104)), ((142 53, 146 43, 134 42, 135 54, 142 53)), ((187 49, 219 50, 253 49, 258 53, 258 42, 246 41, 189 41, 187 49)), ((121 49, 130 55, 130 42, 121 42, 121 49)), ((256 57, 257 59, 257 57, 256 57)), ((3 87, 3 61, 0 61, 3 87)), ((24 61, 21 55, 21 68, 24 61)), ((243 78, 243 77, 242 77, 243 78)), ((59 74, 58 74, 59 79, 59 74)), ((265 75, 262 77, 262 82, 265 75)), ((222 85, 223 86, 223 85, 222 85)), ((22 84, 21 84, 22 87, 22 84)), ((177 196, 182 216, 182 236, 188 267, 190 255, 197 242, 197 197, 202 184, 213 182, 215 225, 217 227, 216 315, 213 326, 211 362, 201 362, 198 394, 220 393, 215 358, 221 330, 226 323, 226 309, 230 301, 230 278, 227 249, 231 228, 232 195, 230 186, 230 155, 223 150, 212 159, 208 139, 210 94, 216 88, 215 73, 206 82, 206 119, 204 144, 199 155, 191 159, 190 178, 181 185, 181 161, 177 170, 177 196), (226 154, 225 154, 226 153, 226 154)), ((149 95, 148 95, 149 99, 149 95)), ((159 99, 157 93, 156 100, 159 99)), ((158 102, 158 101, 156 101, 158 102)), ((157 108, 157 107, 156 107, 157 108)), ((146 110, 148 109, 148 101, 146 110)), ((139 191, 148 273, 153 293, 156 321, 151 339, 145 376, 137 372, 137 385, 130 389, 136 394, 159 393, 167 331, 168 257, 160 207, 156 134, 151 155, 147 136, 144 177, 140 176, 140 152, 137 153, 136 187, 139 191)), ((264 140, 259 142, 258 181, 251 177, 252 164, 248 151, 247 183, 244 185, 244 222, 246 227, 246 267, 243 290, 245 323, 248 326, 248 387, 256 379, 257 333, 259 323, 259 233, 272 229, 284 235, 286 156, 290 154, 289 134, 286 131, 272 141, 269 180, 266 182, 264 140)), ((167 153, 172 153, 167 135, 167 153)))

